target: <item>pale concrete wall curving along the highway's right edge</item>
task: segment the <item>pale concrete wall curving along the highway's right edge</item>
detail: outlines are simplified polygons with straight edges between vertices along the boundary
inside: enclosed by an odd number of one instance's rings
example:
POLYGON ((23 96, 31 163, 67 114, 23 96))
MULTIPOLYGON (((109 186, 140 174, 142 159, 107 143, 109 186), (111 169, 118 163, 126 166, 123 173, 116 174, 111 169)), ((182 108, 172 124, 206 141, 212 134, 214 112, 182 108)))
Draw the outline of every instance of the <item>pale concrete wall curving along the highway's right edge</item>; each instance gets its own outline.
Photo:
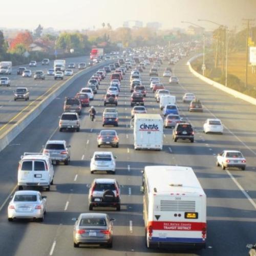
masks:
POLYGON ((198 72, 196 72, 196 71, 191 67, 190 62, 193 61, 193 60, 195 60, 195 59, 197 59, 197 58, 199 58, 200 56, 202 56, 202 54, 198 54, 198 55, 196 55, 196 56, 190 58, 190 59, 187 61, 188 68, 189 68, 190 72, 191 72, 193 75, 195 75, 196 77, 198 77, 198 78, 201 79, 202 81, 204 81, 204 82, 210 84, 211 86, 214 86, 215 88, 218 88, 219 90, 222 90, 222 91, 225 92, 225 93, 228 93, 228 94, 230 94, 230 95, 232 95, 232 96, 234 96, 234 97, 236 97, 236 98, 240 98, 240 99, 245 100, 245 101, 247 101, 247 102, 249 102, 249 103, 251 103, 251 104, 253 104, 253 105, 256 105, 256 99, 255 99, 255 98, 252 98, 252 97, 250 97, 250 96, 248 96, 248 95, 246 95, 246 94, 243 94, 243 93, 240 93, 240 92, 238 92, 238 91, 236 91, 236 90, 233 90, 233 89, 231 89, 231 88, 228 88, 228 87, 224 86, 223 84, 218 83, 218 82, 215 82, 215 81, 213 81, 213 80, 211 80, 211 79, 209 79, 209 78, 207 78, 207 77, 205 77, 205 76, 199 74, 198 72))

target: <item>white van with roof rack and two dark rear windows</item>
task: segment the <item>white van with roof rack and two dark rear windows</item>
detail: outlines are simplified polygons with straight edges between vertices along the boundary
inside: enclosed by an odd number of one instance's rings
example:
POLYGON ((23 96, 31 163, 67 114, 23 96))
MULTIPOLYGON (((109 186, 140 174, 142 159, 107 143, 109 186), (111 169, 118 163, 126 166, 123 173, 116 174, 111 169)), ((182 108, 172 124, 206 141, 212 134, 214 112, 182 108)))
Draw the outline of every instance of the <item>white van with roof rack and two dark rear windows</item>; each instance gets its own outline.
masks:
POLYGON ((18 189, 24 186, 46 187, 53 184, 54 169, 49 155, 24 153, 18 166, 18 189))

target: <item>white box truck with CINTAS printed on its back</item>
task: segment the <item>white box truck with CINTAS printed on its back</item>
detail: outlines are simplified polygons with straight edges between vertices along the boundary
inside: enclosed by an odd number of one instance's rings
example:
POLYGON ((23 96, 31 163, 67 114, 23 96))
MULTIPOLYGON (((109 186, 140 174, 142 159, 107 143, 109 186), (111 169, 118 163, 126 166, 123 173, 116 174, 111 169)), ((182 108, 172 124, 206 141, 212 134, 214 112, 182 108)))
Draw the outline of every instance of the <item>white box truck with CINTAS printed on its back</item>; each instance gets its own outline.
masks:
POLYGON ((159 114, 135 114, 135 150, 162 150, 163 119, 159 114))

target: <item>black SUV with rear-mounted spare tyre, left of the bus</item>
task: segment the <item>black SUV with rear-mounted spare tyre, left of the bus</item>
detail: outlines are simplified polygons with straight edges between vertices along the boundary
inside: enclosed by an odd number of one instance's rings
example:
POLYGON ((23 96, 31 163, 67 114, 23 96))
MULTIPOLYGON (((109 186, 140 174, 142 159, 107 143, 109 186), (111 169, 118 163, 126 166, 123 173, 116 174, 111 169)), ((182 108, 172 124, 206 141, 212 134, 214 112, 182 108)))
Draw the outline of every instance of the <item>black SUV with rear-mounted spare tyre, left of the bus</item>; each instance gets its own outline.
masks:
POLYGON ((95 179, 89 190, 89 210, 93 207, 116 207, 121 209, 120 186, 116 179, 95 179))

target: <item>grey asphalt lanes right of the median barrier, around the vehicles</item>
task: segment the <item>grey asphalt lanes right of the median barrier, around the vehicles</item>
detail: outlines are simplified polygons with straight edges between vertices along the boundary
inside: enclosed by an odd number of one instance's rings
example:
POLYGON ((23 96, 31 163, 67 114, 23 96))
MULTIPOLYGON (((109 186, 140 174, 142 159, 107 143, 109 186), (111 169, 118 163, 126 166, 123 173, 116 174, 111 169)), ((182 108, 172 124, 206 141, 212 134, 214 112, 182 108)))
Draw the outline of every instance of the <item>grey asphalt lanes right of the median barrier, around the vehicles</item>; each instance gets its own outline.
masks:
MULTIPOLYGON (((191 56, 190 56, 191 57, 191 56)), ((166 88, 177 97, 180 115, 195 129, 195 143, 172 140, 172 129, 164 129, 164 147, 161 152, 134 151, 133 130, 130 129, 130 72, 121 82, 118 99, 119 148, 100 148, 117 156, 116 174, 90 174, 90 159, 98 151, 96 137, 102 130, 103 95, 110 84, 110 75, 101 82, 95 100, 91 102, 98 114, 91 122, 88 108, 81 115, 79 133, 58 131, 58 117, 66 96, 75 95, 94 71, 77 78, 26 129, 0 153, 0 247, 2 255, 246 255, 246 244, 255 243, 256 190, 254 127, 256 106, 231 97, 190 74, 187 58, 181 59, 173 70, 180 84, 166 88), (203 113, 189 113, 182 103, 185 92, 192 92, 204 105, 203 113), (202 131, 206 118, 220 118, 225 125, 223 135, 205 135, 202 131), (40 152, 48 139, 65 139, 71 145, 70 165, 55 166, 54 185, 47 196, 47 215, 43 223, 7 221, 8 195, 17 183, 17 165, 24 152, 40 152), (222 170, 216 166, 216 155, 225 149, 242 151, 246 157, 245 171, 222 170), (141 173, 145 165, 181 165, 195 170, 207 195, 207 246, 199 251, 148 250, 144 239, 142 219, 141 173), (88 212, 88 184, 94 178, 116 178, 121 185, 121 211, 106 208, 115 218, 113 248, 74 248, 73 221, 81 212, 88 212), (7 202, 5 204, 5 201, 7 202)), ((161 66, 162 75, 167 63, 161 66)), ((145 106, 148 113, 161 113, 149 88, 149 68, 143 72, 147 87, 145 106)), ((32 79, 31 79, 32 81, 32 79)), ((34 81, 34 80, 33 80, 34 81)), ((8 89, 9 90, 9 89, 8 89)), ((10 96, 11 97, 11 96, 10 96)), ((107 127, 104 127, 107 129, 107 127)), ((95 210, 100 211, 100 210, 95 210)))

